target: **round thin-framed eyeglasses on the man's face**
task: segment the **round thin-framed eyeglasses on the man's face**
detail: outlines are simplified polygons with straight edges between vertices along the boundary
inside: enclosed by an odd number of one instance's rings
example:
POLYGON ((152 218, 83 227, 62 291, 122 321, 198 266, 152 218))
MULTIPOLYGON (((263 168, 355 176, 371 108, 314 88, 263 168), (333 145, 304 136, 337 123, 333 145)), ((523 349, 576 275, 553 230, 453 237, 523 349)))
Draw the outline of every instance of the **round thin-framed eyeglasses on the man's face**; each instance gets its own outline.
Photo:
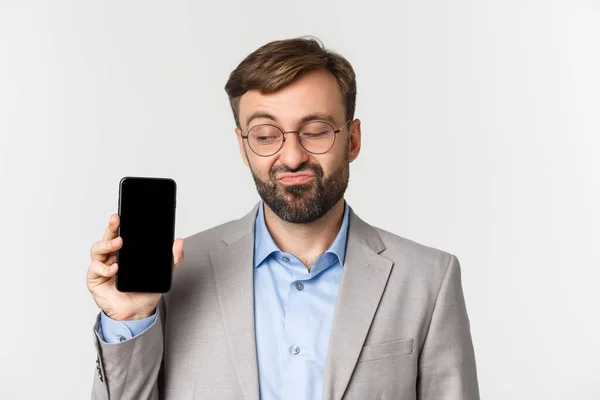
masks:
POLYGON ((336 134, 340 133, 350 121, 351 119, 346 121, 344 125, 340 126, 340 129, 334 129, 327 122, 315 121, 304 125, 299 131, 287 132, 275 125, 261 124, 250 128, 246 135, 242 132, 241 136, 248 140, 250 149, 261 157, 272 156, 281 150, 286 133, 297 133, 300 145, 309 153, 325 154, 335 144, 336 134))

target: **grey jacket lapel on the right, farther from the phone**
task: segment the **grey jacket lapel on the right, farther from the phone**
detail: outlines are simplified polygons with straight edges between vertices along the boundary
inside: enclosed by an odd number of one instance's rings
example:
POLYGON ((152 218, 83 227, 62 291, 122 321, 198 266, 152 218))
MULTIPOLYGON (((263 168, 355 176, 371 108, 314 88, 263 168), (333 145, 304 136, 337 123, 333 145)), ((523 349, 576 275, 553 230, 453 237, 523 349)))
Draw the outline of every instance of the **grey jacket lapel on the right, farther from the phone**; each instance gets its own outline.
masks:
POLYGON ((344 271, 325 362, 325 400, 342 398, 356 366, 393 265, 379 255, 384 249, 377 231, 351 211, 344 271))

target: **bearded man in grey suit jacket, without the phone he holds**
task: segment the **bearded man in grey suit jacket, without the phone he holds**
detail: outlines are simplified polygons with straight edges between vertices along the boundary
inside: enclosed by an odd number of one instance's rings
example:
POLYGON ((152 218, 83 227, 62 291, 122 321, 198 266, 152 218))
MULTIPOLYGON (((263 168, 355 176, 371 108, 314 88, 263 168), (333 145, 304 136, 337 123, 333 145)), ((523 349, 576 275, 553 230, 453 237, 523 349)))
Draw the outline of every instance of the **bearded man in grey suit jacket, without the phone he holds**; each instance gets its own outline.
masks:
POLYGON ((164 296, 116 291, 111 217, 87 276, 102 309, 92 398, 478 399, 457 258, 344 200, 361 147, 348 61, 275 41, 225 89, 262 200, 177 239, 164 296))

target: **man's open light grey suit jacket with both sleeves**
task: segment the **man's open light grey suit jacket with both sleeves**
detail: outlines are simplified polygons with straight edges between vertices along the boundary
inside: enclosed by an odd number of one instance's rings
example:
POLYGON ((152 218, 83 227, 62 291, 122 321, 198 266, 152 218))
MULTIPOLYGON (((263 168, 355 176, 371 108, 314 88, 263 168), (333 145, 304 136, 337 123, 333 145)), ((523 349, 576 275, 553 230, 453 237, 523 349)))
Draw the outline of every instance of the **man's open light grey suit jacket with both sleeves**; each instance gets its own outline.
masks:
MULTIPOLYGON (((156 322, 98 353, 92 399, 258 400, 254 220, 185 239, 156 322)), ((323 399, 479 399, 457 258, 350 212, 323 399)), ((285 399, 284 399, 285 400, 285 399)))

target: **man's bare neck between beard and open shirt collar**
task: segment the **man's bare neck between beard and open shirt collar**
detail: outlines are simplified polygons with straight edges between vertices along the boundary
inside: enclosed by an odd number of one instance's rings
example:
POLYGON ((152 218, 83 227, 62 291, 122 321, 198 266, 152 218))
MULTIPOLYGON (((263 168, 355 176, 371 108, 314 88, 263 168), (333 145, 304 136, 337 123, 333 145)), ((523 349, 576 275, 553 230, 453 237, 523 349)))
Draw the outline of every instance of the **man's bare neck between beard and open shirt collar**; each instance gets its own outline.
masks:
POLYGON ((308 268, 335 241, 344 219, 344 199, 321 218, 308 224, 292 224, 279 218, 264 203, 265 223, 281 251, 293 254, 308 268))

